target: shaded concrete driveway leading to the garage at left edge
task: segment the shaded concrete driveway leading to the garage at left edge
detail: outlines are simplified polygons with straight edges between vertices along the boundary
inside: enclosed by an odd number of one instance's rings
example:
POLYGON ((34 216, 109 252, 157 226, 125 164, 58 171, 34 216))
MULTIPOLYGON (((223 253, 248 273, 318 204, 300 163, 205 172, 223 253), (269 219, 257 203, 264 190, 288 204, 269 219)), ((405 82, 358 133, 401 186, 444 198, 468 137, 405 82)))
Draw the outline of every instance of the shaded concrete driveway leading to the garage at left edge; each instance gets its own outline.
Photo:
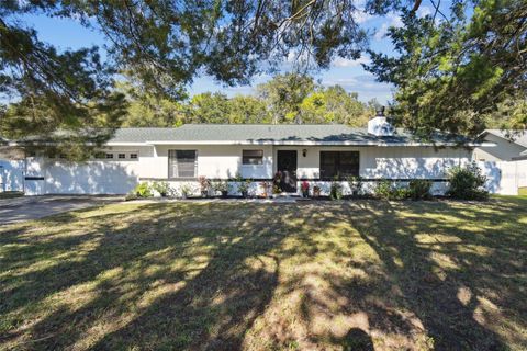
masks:
POLYGON ((0 200, 0 225, 122 201, 122 196, 45 195, 0 200))

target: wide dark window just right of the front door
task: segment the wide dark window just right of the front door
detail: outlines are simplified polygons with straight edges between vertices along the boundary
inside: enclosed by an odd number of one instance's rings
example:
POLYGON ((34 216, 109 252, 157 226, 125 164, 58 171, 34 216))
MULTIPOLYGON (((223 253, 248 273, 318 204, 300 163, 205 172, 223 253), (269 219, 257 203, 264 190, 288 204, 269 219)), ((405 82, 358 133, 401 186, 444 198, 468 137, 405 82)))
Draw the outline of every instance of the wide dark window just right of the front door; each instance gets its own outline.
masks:
POLYGON ((359 151, 321 151, 321 179, 359 176, 359 151))

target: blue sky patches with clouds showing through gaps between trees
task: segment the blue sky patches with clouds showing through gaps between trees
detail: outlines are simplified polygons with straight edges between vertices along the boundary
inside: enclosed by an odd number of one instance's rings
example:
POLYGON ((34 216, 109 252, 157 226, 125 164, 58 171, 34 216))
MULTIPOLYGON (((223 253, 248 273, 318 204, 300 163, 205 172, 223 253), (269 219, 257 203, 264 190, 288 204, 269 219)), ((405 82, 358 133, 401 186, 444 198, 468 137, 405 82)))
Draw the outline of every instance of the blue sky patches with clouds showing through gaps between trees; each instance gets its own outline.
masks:
MULTIPOLYGON (((419 8, 419 14, 425 15, 431 12, 431 8, 423 4, 419 8)), ((24 15, 20 19, 25 25, 34 27, 41 41, 53 44, 58 48, 77 49, 97 45, 103 47, 105 44, 104 36, 96 29, 83 27, 80 23, 71 19, 47 18, 44 15, 24 15)), ((402 25, 401 20, 395 14, 388 14, 384 18, 370 16, 361 14, 359 21, 370 33, 370 48, 375 52, 385 54, 393 54, 392 45, 389 38, 385 37, 386 31, 390 26, 402 25)), ((392 99, 393 87, 386 83, 375 81, 375 77, 366 71, 361 64, 367 64, 369 58, 362 56, 357 60, 349 60, 344 58, 336 58, 329 69, 313 72, 315 80, 323 86, 339 84, 348 92, 357 92, 359 100, 367 102, 371 99, 377 99, 380 103, 386 104, 392 99)), ((282 71, 287 71, 284 65, 282 71)), ((258 83, 266 82, 271 79, 270 75, 259 75, 254 77, 251 84, 225 87, 215 82, 211 77, 197 77, 193 83, 188 87, 190 95, 206 92, 220 91, 228 97, 236 94, 251 94, 255 93, 255 87, 258 83)))

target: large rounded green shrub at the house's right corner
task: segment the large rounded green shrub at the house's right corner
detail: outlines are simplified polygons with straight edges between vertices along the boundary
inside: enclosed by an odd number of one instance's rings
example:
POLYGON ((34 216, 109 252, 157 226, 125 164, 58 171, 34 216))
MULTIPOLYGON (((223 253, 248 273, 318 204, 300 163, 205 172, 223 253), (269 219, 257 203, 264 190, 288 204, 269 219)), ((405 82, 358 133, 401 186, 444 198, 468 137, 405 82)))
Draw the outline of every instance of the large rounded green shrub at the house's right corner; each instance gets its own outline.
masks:
POLYGON ((481 174, 478 165, 456 166, 448 171, 447 195, 459 200, 486 200, 489 192, 484 185, 486 177, 481 174))

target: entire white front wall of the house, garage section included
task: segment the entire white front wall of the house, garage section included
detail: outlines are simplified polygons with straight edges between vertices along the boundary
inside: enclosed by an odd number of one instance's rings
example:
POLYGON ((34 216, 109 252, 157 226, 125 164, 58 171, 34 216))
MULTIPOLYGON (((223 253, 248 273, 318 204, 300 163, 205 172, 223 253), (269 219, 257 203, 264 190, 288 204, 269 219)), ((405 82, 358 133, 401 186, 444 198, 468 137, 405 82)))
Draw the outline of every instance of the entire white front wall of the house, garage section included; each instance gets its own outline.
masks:
MULTIPOLYGON (((299 179, 319 178, 322 150, 356 150, 360 152, 360 176, 371 179, 444 179, 448 168, 470 161, 466 149, 434 149, 433 147, 322 147, 322 146, 239 146, 239 145, 157 145, 141 147, 109 147, 114 152, 138 152, 138 160, 94 160, 70 163, 60 159, 29 158, 26 176, 44 180, 25 181, 27 194, 77 193, 125 194, 139 181, 168 181, 168 150, 198 151, 198 173, 209 179, 243 178, 272 179, 277 171, 277 151, 298 151, 299 179), (264 165, 242 165, 244 149, 264 150, 264 165), (306 150, 305 157, 303 150, 306 150)), ((188 180, 170 180, 171 183, 188 180)), ((325 189, 325 185, 322 188, 325 189)), ((343 184, 345 188, 347 184, 343 184)), ((435 184, 439 186, 439 184, 435 184)), ((258 192, 255 184, 253 192, 258 192)), ((300 189, 300 186, 299 186, 300 189)), ((236 192, 233 186, 233 192, 236 192)))

